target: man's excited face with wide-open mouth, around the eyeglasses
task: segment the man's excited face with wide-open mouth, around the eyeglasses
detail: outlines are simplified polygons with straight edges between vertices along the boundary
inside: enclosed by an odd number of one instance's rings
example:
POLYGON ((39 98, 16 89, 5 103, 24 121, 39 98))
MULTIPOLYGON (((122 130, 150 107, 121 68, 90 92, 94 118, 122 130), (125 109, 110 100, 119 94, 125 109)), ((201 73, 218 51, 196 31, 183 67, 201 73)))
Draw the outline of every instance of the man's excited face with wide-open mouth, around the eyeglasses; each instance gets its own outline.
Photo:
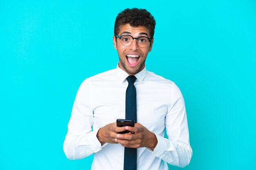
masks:
MULTIPOLYGON (((118 35, 131 35, 135 38, 139 36, 149 37, 149 30, 144 26, 134 27, 130 26, 130 24, 126 24, 120 26, 118 35)), ((121 44, 118 37, 116 41, 114 35, 113 42, 119 56, 119 68, 126 71, 129 75, 135 75, 144 69, 148 52, 151 51, 153 45, 153 39, 151 40, 151 43, 144 48, 138 46, 136 39, 133 40, 130 46, 124 46, 121 44)))

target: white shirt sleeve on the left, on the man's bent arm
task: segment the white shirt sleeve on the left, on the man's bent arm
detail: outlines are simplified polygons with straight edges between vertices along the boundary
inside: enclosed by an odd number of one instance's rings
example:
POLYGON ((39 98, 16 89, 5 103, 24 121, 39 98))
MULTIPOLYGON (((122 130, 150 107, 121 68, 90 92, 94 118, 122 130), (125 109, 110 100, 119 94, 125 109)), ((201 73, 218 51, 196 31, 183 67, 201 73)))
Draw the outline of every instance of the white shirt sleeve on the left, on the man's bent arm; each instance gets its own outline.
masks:
POLYGON ((90 107, 90 80, 86 79, 76 94, 63 150, 68 159, 82 159, 101 150, 96 137, 99 129, 92 130, 93 111, 90 107))

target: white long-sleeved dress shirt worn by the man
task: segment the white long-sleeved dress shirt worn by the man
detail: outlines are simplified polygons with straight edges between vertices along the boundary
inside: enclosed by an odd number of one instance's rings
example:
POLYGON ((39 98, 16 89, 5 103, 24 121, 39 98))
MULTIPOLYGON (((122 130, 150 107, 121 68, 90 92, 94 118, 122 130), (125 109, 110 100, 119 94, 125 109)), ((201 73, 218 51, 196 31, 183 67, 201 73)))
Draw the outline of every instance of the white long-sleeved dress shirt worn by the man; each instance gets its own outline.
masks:
MULTIPOLYGON (((129 76, 116 69, 87 78, 76 94, 63 149, 68 159, 94 154, 91 170, 123 170, 124 147, 101 143, 96 135, 106 124, 125 119, 125 98, 129 76)), ((137 148, 137 170, 168 170, 167 163, 184 167, 192 149, 184 99, 170 80, 149 72, 135 75, 137 122, 155 133, 157 146, 137 148), (164 130, 168 139, 164 138, 164 130), (166 163, 167 162, 167 163, 166 163)))

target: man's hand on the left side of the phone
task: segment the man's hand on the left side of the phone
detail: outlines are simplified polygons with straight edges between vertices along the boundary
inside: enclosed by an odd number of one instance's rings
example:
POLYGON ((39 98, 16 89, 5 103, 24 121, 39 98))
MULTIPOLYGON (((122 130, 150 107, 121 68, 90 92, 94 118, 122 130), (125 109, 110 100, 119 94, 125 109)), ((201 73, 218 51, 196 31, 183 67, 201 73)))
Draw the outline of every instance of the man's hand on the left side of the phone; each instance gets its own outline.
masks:
POLYGON ((117 127, 117 123, 114 122, 107 124, 106 126, 103 126, 101 129, 99 129, 96 136, 99 142, 101 142, 101 145, 105 142, 110 144, 117 144, 117 142, 115 142, 115 138, 117 137, 117 134, 122 131, 126 131, 125 126, 117 127))

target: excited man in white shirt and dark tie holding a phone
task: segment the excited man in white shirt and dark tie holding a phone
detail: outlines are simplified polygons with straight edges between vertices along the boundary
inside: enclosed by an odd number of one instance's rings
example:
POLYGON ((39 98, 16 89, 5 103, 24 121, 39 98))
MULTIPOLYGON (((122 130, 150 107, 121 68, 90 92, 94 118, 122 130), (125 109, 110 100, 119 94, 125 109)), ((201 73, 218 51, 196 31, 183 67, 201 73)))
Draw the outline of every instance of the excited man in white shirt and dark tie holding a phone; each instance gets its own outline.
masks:
POLYGON ((189 164, 192 149, 180 89, 145 67, 154 30, 155 19, 145 9, 125 9, 118 14, 113 43, 119 63, 79 87, 63 146, 67 158, 94 154, 92 170, 168 170, 167 163, 189 164), (135 101, 133 105, 127 103, 132 98, 129 86, 135 94, 130 101, 135 101), (115 121, 130 116, 127 109, 134 105, 135 127, 117 127, 115 121), (130 132, 119 133, 126 130, 130 132))

